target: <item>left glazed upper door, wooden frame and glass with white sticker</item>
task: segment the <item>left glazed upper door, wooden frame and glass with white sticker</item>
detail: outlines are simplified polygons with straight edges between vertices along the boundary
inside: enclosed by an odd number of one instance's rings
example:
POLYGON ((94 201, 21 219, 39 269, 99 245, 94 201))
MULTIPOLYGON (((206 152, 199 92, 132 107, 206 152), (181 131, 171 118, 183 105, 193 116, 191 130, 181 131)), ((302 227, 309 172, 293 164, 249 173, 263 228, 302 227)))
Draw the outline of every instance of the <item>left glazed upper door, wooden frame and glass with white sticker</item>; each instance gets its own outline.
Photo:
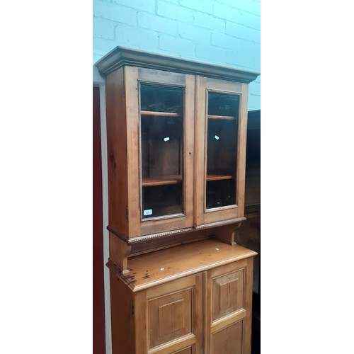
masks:
POLYGON ((193 226, 193 75, 125 67, 129 236, 193 226))

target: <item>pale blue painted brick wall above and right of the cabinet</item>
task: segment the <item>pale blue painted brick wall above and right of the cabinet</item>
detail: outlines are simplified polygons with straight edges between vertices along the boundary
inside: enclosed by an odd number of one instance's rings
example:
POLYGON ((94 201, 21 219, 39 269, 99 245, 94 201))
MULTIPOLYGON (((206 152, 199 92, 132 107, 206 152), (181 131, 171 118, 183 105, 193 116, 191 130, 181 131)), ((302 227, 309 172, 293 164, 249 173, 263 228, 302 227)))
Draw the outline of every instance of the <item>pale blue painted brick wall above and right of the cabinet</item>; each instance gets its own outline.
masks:
MULTIPOLYGON (((261 72, 258 0, 93 0, 93 63, 117 45, 261 72)), ((261 77, 249 110, 261 108, 261 77)))

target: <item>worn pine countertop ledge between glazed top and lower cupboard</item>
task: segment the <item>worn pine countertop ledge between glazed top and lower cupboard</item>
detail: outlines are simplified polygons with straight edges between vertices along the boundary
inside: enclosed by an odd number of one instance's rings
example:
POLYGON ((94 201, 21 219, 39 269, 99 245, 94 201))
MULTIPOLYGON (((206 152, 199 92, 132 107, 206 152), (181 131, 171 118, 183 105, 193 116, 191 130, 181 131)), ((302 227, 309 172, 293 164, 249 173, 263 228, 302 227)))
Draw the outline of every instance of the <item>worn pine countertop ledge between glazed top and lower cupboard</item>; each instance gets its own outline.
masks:
POLYGON ((239 245, 230 246, 217 239, 206 239, 129 258, 130 271, 124 275, 113 263, 108 262, 107 266, 133 292, 137 292, 256 254, 239 245))

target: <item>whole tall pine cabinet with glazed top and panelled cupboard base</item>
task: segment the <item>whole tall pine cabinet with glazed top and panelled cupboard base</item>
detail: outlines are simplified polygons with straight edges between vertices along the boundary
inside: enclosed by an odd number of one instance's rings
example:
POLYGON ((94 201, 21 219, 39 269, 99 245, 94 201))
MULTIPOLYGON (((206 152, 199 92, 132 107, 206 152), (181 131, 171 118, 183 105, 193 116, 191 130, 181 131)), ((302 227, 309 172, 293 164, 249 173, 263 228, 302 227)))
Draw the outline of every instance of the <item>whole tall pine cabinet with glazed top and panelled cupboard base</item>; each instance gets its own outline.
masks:
POLYGON ((247 97, 258 73, 116 47, 105 76, 114 354, 250 354, 247 97))

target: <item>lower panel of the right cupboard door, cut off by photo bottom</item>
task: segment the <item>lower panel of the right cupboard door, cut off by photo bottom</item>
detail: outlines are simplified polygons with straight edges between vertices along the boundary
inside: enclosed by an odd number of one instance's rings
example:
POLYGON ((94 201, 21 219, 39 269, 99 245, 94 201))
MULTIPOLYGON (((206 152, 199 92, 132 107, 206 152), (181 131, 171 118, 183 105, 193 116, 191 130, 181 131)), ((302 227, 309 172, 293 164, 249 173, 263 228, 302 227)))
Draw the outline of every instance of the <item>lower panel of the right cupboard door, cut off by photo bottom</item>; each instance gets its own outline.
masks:
POLYGON ((243 323, 241 320, 212 333, 212 354, 243 354, 243 323))

